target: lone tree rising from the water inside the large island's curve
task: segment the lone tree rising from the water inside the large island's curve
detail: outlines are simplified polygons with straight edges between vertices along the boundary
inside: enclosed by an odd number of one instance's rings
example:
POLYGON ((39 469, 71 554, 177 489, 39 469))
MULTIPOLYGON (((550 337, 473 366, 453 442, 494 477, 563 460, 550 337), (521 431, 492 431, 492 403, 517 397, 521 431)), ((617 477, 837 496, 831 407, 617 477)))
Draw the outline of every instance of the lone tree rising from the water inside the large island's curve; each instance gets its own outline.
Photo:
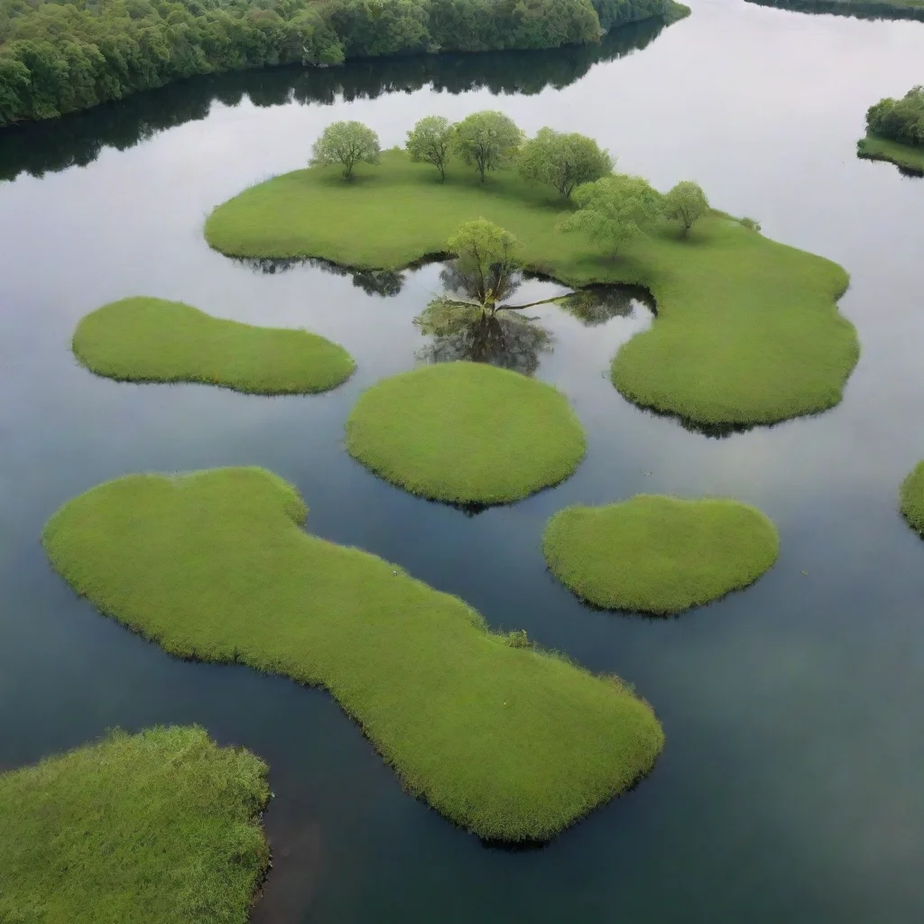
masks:
POLYGON ((517 287, 519 241, 509 231, 486 218, 460 225, 447 241, 456 261, 447 279, 477 301, 481 310, 493 314, 497 303, 517 287))

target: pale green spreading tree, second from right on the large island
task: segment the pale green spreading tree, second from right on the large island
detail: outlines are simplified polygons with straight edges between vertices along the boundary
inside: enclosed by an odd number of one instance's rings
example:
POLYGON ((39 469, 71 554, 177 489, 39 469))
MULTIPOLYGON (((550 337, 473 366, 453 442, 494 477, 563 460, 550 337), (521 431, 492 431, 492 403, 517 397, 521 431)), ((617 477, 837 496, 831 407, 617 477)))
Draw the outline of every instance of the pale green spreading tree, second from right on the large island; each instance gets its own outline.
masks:
POLYGON ((560 225, 609 247, 612 255, 644 233, 656 217, 662 196, 643 176, 614 174, 585 183, 574 192, 577 212, 560 225))

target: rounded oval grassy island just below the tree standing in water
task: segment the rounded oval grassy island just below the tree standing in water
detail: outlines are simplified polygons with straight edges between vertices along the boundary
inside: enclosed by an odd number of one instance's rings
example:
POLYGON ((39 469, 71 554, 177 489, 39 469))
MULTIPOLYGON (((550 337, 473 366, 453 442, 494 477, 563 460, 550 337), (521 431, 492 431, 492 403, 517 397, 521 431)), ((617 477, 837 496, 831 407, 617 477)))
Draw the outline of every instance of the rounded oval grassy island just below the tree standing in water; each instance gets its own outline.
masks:
POLYGON ((505 504, 558 484, 584 457, 584 430, 551 385, 475 362, 374 384, 346 421, 346 450, 433 500, 505 504))

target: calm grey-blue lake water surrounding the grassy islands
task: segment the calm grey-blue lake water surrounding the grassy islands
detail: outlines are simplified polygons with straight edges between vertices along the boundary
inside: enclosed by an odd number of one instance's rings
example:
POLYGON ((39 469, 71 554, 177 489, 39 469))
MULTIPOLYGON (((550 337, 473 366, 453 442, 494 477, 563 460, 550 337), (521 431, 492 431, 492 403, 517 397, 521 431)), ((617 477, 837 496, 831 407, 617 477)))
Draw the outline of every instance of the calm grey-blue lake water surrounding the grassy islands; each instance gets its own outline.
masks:
POLYGON ((393 63, 378 83, 377 65, 204 81, 0 134, 4 174, 26 171, 0 186, 0 765, 115 724, 198 722, 253 748, 276 794, 263 924, 917 921, 924 544, 895 508, 924 457, 924 181, 858 161, 854 144, 870 103, 920 81, 924 25, 702 0, 644 51, 582 55, 393 63), (605 378, 645 310, 587 327, 544 308, 553 350, 536 374, 590 433, 574 478, 465 517, 354 464, 343 421, 363 388, 426 345, 411 321, 438 268, 367 295, 318 267, 227 261, 205 246, 202 220, 303 164, 334 118, 369 123, 388 146, 421 115, 486 107, 530 132, 593 135, 660 188, 696 178, 715 206, 842 263, 852 283, 841 306, 862 344, 844 403, 707 439, 632 407, 605 378), (28 175, 73 163, 88 165, 28 175), (331 395, 266 399, 80 370, 68 351, 80 316, 136 293, 305 325, 343 343, 359 371, 331 395), (637 684, 667 735, 655 772, 542 850, 486 848, 404 796, 322 692, 171 661, 46 565, 43 522, 74 494, 132 471, 237 464, 298 484, 322 536, 637 684), (780 529, 779 563, 674 621, 582 607, 545 573, 542 526, 563 505, 640 491, 759 505, 780 529))

